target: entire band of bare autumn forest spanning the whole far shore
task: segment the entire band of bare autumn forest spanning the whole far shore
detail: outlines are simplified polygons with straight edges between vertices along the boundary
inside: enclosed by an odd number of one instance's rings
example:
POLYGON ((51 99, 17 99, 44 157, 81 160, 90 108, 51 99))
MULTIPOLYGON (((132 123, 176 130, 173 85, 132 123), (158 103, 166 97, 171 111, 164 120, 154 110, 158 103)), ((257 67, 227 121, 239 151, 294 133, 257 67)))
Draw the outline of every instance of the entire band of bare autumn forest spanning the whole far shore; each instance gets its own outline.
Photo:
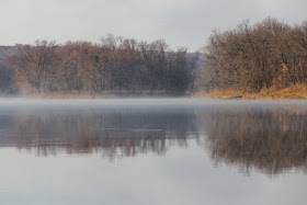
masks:
MULTIPOLYGON (((200 45, 201 46, 201 45, 200 45)), ((307 21, 268 18, 214 30, 201 53, 106 35, 99 43, 0 46, 1 93, 260 93, 307 83, 307 21)), ((289 89, 289 92, 296 92, 289 89)))

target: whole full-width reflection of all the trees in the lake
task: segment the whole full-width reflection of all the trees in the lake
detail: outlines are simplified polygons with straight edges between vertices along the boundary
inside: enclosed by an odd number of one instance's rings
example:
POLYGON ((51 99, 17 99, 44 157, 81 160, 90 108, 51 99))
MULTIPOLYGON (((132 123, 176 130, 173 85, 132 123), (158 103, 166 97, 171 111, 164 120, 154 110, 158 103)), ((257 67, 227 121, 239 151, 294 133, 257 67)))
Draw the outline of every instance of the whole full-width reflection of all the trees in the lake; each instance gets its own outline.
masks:
POLYGON ((236 166, 245 173, 306 173, 306 124, 303 105, 16 111, 0 114, 0 146, 37 156, 96 152, 114 160, 164 155, 171 146, 196 140, 215 163, 236 166))

